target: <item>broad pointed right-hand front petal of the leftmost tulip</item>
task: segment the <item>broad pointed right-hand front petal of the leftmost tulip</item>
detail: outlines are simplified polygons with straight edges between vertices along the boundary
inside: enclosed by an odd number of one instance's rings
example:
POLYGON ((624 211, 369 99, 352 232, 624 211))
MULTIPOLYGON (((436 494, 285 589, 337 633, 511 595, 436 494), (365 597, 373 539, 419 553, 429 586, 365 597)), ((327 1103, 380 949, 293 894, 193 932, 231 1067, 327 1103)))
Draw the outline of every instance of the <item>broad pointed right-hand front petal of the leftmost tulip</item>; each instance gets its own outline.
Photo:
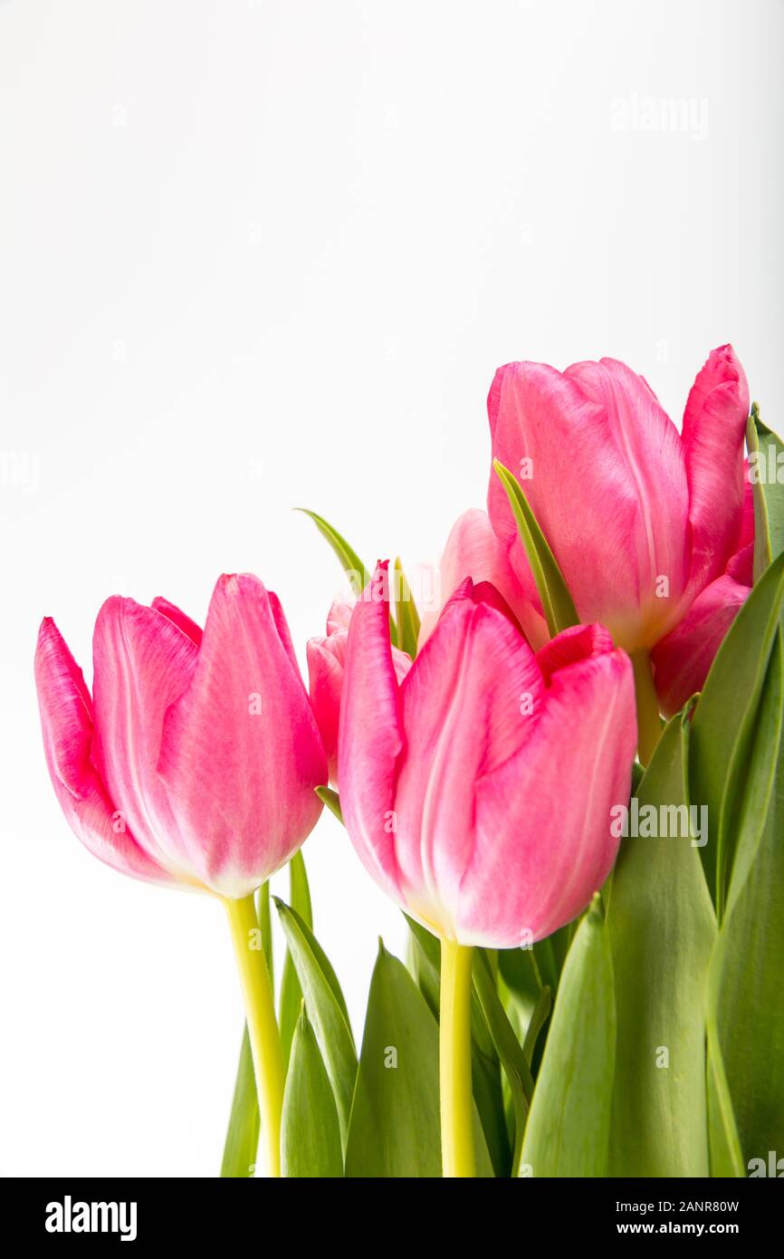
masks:
POLYGON ((287 861, 321 812, 326 758, 277 599, 221 577, 186 689, 166 713, 159 776, 177 844, 223 896, 287 861))

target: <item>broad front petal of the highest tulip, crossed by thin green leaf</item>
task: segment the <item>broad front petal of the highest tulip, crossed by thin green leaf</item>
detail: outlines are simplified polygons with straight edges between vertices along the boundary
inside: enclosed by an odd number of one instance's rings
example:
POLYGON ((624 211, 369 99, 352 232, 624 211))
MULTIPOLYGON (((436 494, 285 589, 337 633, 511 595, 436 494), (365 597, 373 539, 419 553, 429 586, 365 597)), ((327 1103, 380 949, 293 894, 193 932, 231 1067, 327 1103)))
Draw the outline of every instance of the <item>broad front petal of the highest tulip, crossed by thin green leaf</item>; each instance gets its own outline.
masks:
MULTIPOLYGON (((516 475, 531 461, 521 485, 580 619, 607 624, 624 646, 654 642, 677 616, 686 580, 688 499, 677 429, 646 381, 613 359, 563 375, 515 363, 496 373, 487 405, 493 456, 516 475), (657 593, 662 575, 668 598, 657 593)), ((530 589, 495 472, 488 511, 530 589)))

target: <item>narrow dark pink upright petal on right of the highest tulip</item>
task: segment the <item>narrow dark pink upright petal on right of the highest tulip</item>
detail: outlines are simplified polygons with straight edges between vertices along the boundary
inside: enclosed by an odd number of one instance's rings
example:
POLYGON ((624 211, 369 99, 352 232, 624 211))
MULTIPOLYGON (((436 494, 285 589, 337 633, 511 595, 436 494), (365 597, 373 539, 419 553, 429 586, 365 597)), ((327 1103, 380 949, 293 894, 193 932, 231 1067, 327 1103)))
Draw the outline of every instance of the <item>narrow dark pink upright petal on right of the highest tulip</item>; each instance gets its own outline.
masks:
POLYGON ((724 572, 739 545, 748 415, 749 385, 744 369, 732 346, 722 345, 711 351, 697 374, 683 413, 692 593, 724 572))

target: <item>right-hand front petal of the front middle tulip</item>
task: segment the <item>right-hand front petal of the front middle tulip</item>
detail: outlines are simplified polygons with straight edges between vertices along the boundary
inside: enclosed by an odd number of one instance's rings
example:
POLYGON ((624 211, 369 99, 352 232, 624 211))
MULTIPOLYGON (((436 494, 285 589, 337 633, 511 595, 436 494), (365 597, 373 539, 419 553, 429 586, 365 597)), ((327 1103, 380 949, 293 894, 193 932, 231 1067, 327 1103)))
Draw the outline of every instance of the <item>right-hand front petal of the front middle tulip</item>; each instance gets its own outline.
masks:
POLYGON ((615 859, 610 810, 628 803, 636 745, 624 652, 600 651, 551 675, 529 742, 477 783, 461 942, 513 948, 588 904, 615 859))

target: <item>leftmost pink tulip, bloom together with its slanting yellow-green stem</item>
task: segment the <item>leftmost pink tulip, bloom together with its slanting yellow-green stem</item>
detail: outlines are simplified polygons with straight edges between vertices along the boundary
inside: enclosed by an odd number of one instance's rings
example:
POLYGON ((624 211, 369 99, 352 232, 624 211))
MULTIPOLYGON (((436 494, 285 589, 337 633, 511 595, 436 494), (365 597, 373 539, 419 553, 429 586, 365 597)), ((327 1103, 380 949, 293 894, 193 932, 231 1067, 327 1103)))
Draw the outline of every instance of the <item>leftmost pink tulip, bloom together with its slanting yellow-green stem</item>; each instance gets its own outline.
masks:
POLYGON ((283 1061, 253 891, 316 825, 326 758, 277 597, 221 577, 204 633, 174 604, 115 596, 93 637, 93 694, 54 621, 35 680, 47 764, 82 844, 107 865, 225 905, 272 1175, 283 1061))

